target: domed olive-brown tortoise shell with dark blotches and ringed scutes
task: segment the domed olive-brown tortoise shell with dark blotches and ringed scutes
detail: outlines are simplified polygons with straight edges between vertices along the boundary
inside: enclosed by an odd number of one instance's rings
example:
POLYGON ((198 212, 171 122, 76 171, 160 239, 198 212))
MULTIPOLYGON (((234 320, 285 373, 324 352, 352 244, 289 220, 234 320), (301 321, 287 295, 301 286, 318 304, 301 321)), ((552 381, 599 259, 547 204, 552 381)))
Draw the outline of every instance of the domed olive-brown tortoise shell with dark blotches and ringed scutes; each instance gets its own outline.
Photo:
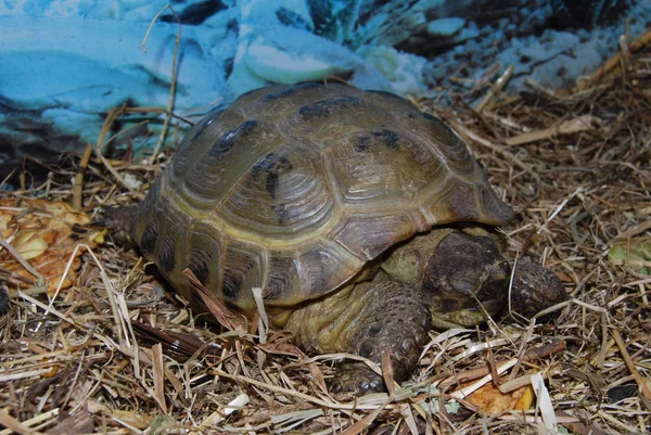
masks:
POLYGON ((142 254, 202 309, 292 307, 433 226, 505 223, 511 209, 441 120, 341 84, 251 91, 184 137, 131 222, 142 254))

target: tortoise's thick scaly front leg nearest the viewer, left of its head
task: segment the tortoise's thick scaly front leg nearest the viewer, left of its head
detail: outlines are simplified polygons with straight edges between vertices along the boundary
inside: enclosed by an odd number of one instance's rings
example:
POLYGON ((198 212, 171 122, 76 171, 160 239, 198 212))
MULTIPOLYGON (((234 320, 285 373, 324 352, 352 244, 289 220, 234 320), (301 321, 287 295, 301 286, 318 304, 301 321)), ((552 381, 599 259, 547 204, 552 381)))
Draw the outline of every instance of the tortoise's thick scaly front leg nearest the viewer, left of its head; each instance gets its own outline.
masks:
MULTIPOLYGON (((363 282, 295 311, 286 329, 297 344, 318 353, 348 353, 382 366, 391 353, 394 379, 416 369, 427 340, 430 302, 422 292, 392 280, 363 282)), ((346 360, 332 381, 334 391, 382 391, 384 382, 361 361, 346 360)))

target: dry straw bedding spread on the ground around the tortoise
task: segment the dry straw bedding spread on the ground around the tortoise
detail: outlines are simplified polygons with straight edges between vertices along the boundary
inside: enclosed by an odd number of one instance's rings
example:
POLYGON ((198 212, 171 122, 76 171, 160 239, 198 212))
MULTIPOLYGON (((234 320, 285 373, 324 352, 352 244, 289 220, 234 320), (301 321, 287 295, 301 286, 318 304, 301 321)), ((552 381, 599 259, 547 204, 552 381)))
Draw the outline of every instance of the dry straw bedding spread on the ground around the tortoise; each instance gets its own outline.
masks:
MULTIPOLYGON (((86 250, 74 285, 49 303, 3 284, 11 304, 0 318, 0 435, 649 433, 651 278, 608 256, 615 241, 651 235, 644 48, 571 93, 535 87, 510 98, 500 85, 476 110, 437 113, 514 205, 505 229, 511 254, 540 257, 564 281, 572 302, 554 308, 551 324, 498 320, 433 333, 412 381, 394 386, 384 373, 390 394, 335 397, 326 380, 339 356, 308 358, 278 331, 260 343, 243 328, 205 327, 137 253, 106 244, 86 250), (486 383, 533 385, 532 409, 477 409, 464 392, 486 383)), ((2 195, 76 197, 89 213, 132 201, 133 188, 88 157, 53 170, 47 184, 2 195), (69 180, 81 168, 74 195, 69 180)), ((144 187, 156 169, 112 166, 144 187)))

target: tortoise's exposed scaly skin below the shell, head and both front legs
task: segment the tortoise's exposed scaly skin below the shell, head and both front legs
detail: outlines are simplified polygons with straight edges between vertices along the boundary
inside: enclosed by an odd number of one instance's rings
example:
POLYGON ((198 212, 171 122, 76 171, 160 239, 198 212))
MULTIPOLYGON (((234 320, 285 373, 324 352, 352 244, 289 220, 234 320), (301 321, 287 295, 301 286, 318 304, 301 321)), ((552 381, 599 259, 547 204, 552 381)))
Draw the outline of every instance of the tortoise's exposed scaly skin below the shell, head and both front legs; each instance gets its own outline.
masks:
MULTIPOLYGON (((521 261, 511 306, 531 317, 566 298, 558 277, 521 261)), ((349 353, 381 366, 391 351, 394 379, 416 369, 433 327, 472 327, 507 305, 511 261, 497 235, 478 228, 444 228, 417 235, 391 252, 372 281, 354 283, 295 310, 285 329, 299 346, 317 353, 349 353)), ((385 388, 363 362, 341 364, 335 391, 385 388)))

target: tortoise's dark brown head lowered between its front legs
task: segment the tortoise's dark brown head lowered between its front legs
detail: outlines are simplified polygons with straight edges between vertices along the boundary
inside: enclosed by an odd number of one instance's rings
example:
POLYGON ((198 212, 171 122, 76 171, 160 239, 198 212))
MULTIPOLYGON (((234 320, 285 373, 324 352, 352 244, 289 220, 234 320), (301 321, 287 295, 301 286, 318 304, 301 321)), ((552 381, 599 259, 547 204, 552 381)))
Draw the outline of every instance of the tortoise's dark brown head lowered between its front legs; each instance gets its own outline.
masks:
POLYGON ((423 277, 423 290, 433 296, 432 324, 472 327, 497 315, 507 300, 510 269, 494 236, 447 235, 423 277))

